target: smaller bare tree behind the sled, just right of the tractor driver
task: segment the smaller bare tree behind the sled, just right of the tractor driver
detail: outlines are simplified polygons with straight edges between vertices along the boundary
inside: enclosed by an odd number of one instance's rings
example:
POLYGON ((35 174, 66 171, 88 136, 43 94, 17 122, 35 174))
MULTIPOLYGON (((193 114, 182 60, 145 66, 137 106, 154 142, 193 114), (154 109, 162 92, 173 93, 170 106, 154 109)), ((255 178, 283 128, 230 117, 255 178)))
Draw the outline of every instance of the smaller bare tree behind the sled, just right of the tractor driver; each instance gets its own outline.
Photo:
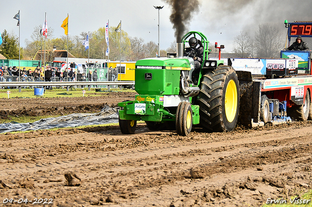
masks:
POLYGON ((234 37, 234 53, 240 53, 241 57, 246 53, 253 53, 253 40, 247 32, 240 31, 240 34, 234 37))

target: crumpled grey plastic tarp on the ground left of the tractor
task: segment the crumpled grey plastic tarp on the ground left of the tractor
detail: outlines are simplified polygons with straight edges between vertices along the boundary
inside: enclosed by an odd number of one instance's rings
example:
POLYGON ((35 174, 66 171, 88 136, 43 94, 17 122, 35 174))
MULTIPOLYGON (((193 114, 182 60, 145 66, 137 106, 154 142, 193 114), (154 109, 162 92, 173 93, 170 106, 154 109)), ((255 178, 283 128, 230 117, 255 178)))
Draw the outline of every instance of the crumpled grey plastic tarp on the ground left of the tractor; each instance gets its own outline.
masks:
POLYGON ((70 114, 58 118, 41 119, 33 123, 2 123, 0 133, 118 123, 118 109, 119 107, 105 106, 96 114, 70 114))

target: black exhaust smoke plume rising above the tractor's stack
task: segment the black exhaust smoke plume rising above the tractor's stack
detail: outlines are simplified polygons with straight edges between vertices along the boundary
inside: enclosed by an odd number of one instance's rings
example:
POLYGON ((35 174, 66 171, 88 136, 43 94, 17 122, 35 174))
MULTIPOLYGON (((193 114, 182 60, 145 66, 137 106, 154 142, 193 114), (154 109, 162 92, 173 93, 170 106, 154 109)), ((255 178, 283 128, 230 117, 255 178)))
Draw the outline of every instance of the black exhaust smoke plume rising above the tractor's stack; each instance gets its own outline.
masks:
POLYGON ((181 38, 186 31, 186 26, 190 23, 194 12, 199 10, 198 0, 163 0, 172 7, 170 21, 176 30, 176 42, 181 42, 181 38))

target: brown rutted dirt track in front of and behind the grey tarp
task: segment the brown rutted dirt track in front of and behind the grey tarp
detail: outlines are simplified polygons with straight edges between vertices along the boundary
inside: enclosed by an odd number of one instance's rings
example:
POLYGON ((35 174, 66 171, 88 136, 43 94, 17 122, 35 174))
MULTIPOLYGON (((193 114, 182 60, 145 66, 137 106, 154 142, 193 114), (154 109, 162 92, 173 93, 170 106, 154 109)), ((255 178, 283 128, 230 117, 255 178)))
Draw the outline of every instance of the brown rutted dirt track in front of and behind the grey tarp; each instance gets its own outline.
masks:
MULTIPOLYGON (((1 101, 7 114, 35 108, 38 116, 133 99, 134 93, 110 93, 1 101)), ((189 137, 139 123, 136 132, 104 126, 1 134, 0 206, 257 207, 277 198, 290 204, 312 187, 311 121, 230 133, 194 128, 189 137), (3 204, 6 198, 12 204, 3 204), (18 204, 26 198, 32 202, 18 204)))

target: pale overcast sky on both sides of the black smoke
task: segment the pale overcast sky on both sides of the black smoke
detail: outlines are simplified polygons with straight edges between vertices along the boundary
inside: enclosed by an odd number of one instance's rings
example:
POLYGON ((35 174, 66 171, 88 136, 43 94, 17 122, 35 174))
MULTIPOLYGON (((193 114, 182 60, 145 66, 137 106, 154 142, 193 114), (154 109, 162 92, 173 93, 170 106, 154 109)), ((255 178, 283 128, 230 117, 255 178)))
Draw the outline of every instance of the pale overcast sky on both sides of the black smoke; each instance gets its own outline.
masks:
MULTIPOLYGON (((191 0, 190 0, 191 1, 191 0)), ((224 44, 226 52, 232 52, 234 37, 240 31, 254 35, 260 23, 276 24, 287 30, 284 20, 312 21, 311 0, 198 0, 199 10, 187 24, 188 31, 199 31, 211 43, 224 44)), ((69 14, 69 35, 94 32, 105 27, 116 27, 121 20, 122 30, 144 42, 158 43, 158 10, 160 10, 160 49, 167 49, 176 41, 170 22, 171 7, 164 0, 0 0, 0 32, 19 35, 17 20, 13 17, 20 10, 20 45, 31 40, 35 26, 42 25, 45 12, 47 25, 54 29, 54 37, 64 35, 60 27, 69 14)), ((39 31, 38 31, 39 33, 39 31)))

